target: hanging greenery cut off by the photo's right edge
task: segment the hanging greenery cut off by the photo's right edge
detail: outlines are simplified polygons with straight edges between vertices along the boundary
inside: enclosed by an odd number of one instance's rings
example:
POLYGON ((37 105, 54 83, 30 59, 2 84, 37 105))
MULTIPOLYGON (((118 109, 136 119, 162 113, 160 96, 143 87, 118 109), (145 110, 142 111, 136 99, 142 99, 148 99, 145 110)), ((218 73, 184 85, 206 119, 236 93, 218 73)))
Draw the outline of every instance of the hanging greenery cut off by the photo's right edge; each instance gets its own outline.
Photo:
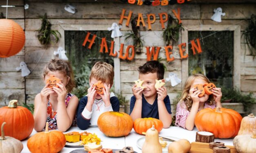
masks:
MULTIPOLYGON (((256 15, 252 14, 249 19, 249 25, 243 33, 245 42, 250 50, 250 55, 256 56, 256 15)), ((246 52, 245 52, 246 54, 246 52)))

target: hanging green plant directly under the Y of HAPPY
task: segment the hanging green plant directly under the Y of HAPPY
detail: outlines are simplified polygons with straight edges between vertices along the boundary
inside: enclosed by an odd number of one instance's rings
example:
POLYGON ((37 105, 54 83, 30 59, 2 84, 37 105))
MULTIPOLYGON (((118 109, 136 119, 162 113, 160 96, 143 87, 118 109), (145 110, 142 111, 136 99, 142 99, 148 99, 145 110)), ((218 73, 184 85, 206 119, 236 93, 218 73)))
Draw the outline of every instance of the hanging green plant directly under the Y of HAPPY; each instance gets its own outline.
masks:
POLYGON ((182 23, 178 24, 177 20, 171 15, 168 15, 167 27, 163 32, 163 38, 166 45, 172 45, 173 42, 178 41, 181 28, 183 29, 182 23))

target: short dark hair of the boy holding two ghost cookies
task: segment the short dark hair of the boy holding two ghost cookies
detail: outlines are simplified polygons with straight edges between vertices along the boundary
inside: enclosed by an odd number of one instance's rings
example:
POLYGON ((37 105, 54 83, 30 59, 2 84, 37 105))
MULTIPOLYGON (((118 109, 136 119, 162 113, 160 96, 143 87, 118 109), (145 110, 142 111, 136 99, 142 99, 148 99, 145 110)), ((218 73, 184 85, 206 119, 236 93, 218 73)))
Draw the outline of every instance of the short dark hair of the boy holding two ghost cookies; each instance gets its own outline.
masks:
POLYGON ((165 68, 164 64, 159 61, 147 61, 142 66, 139 66, 138 71, 140 74, 155 73, 158 80, 164 79, 165 68))

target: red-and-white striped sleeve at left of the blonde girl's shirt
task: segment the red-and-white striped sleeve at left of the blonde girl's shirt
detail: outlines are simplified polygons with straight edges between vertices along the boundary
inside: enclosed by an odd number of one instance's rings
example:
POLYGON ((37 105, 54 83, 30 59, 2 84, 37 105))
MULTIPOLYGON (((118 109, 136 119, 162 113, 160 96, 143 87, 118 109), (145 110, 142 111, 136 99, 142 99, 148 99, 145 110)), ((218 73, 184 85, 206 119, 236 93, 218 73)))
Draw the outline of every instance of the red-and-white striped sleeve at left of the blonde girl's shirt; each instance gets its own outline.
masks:
POLYGON ((182 107, 180 103, 178 103, 177 108, 176 108, 176 120, 175 120, 175 125, 177 127, 183 127, 186 129, 186 119, 187 116, 189 115, 189 111, 182 107))

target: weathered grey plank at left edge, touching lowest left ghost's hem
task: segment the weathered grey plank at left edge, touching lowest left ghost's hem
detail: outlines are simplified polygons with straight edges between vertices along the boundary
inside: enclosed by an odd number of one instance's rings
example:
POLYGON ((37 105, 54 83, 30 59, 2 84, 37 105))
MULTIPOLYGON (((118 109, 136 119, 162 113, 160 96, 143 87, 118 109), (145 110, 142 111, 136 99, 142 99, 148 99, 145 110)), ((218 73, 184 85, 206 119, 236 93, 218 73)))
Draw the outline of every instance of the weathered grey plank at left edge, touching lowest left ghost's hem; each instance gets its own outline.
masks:
POLYGON ((21 72, 0 72, 0 89, 23 89, 24 77, 21 72))

